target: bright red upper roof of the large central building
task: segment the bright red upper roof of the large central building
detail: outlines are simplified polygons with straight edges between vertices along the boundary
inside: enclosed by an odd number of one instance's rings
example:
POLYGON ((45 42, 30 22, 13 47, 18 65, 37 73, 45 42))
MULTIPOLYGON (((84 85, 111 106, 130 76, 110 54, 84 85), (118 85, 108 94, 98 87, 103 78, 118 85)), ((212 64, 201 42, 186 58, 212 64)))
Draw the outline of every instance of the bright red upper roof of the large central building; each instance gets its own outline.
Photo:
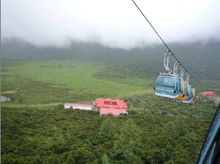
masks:
POLYGON ((97 98, 95 103, 98 108, 128 109, 127 103, 121 99, 97 98))

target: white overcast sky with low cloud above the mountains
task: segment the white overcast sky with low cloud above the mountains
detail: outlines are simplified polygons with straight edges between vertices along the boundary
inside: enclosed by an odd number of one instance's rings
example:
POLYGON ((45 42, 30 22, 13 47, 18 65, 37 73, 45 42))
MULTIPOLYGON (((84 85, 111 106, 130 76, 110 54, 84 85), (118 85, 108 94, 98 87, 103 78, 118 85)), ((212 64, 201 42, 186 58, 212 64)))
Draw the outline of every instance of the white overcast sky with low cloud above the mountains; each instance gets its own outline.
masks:
MULTIPOLYGON (((131 0, 2 0, 2 38, 129 48, 160 40, 131 0)), ((167 42, 220 40, 220 0, 136 0, 167 42)))

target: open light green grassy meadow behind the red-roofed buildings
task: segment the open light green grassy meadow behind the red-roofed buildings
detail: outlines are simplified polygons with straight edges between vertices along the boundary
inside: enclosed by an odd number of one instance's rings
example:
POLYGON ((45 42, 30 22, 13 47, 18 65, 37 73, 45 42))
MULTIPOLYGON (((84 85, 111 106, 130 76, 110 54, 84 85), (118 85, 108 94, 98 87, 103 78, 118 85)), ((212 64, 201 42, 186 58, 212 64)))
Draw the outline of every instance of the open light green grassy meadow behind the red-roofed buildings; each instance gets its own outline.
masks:
POLYGON ((12 91, 8 96, 23 104, 91 101, 152 88, 151 80, 117 77, 106 65, 92 62, 29 61, 7 66, 5 71, 3 93, 12 91))

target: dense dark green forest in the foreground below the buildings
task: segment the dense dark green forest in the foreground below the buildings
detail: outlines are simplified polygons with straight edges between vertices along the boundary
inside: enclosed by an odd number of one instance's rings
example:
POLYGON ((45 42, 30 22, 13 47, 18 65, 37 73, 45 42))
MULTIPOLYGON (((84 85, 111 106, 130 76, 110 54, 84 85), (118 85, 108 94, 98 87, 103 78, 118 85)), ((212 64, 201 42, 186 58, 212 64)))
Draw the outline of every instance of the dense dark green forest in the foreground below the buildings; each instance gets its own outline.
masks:
POLYGON ((195 163, 215 111, 131 96, 128 117, 62 107, 3 108, 3 163, 195 163))

